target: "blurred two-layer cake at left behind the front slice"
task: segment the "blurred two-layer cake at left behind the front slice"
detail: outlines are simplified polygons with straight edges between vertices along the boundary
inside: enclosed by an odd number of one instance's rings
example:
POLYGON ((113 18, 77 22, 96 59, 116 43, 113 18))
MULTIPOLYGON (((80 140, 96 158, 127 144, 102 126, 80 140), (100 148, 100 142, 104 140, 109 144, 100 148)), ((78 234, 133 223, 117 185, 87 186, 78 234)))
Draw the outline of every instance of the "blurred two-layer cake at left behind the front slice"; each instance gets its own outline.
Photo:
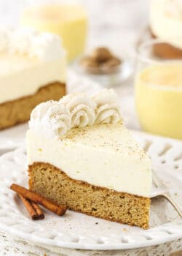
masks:
POLYGON ((66 54, 56 35, 1 29, 0 67, 0 129, 28 121, 40 102, 66 94, 66 54))

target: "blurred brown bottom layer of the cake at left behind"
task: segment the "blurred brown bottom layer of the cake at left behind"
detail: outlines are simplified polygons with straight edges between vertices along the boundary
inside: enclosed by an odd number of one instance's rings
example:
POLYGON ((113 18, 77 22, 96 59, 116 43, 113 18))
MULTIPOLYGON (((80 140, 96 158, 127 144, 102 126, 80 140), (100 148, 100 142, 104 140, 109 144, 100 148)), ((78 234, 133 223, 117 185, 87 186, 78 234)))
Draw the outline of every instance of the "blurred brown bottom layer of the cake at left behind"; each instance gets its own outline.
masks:
POLYGON ((49 83, 36 94, 0 104, 0 129, 28 121, 31 111, 41 102, 58 100, 66 94, 65 83, 49 83))

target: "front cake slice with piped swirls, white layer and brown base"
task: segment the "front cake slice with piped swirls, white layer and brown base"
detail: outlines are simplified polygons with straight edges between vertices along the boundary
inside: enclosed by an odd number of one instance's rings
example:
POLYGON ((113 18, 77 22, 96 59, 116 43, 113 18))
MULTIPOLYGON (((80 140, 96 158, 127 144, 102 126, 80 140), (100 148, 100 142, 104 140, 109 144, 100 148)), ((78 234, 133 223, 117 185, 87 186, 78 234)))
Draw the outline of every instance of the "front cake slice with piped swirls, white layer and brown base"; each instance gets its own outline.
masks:
POLYGON ((103 90, 38 105, 27 133, 29 186, 71 210, 147 228, 151 161, 116 100, 103 90))

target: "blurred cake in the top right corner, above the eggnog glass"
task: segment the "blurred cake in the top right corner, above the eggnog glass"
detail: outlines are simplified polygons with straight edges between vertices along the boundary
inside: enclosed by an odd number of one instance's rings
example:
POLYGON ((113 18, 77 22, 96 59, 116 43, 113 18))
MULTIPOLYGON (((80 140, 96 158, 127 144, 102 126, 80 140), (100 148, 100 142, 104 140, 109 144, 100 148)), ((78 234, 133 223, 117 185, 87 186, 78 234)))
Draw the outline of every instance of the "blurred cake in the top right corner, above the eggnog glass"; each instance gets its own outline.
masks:
POLYGON ((154 46, 154 53, 164 59, 182 58, 182 1, 151 0, 151 35, 164 39, 154 46))

